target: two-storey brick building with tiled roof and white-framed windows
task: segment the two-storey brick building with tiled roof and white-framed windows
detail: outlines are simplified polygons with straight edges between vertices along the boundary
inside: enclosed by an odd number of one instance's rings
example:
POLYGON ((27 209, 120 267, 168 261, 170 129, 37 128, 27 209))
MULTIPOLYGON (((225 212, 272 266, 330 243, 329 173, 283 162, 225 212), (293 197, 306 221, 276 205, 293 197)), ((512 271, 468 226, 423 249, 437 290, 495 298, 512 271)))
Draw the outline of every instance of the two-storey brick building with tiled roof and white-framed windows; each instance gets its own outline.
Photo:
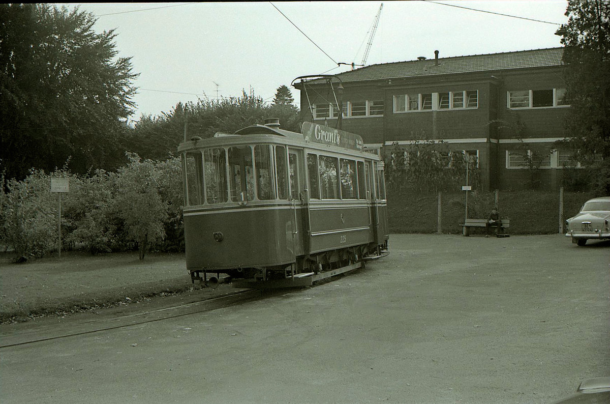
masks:
MULTIPOLYGON (((476 159, 484 190, 522 189, 528 161, 544 189, 577 165, 565 139, 563 48, 435 57, 370 65, 333 78, 301 80, 301 120, 362 135, 386 153, 440 142, 476 159), (337 91, 341 85, 342 89, 337 91), (334 90, 334 91, 333 91, 334 90)), ((450 162, 448 163, 450 164, 450 162)))

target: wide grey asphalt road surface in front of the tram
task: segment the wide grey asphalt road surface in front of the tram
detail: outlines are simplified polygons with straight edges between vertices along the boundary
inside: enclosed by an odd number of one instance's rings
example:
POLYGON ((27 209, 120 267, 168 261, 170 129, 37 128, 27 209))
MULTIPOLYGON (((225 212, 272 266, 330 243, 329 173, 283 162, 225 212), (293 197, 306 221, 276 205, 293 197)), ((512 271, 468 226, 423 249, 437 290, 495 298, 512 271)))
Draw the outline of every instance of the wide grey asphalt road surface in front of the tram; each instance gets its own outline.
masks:
POLYGON ((610 243, 393 235, 390 251, 312 288, 0 348, 0 401, 550 403, 610 375, 610 243))

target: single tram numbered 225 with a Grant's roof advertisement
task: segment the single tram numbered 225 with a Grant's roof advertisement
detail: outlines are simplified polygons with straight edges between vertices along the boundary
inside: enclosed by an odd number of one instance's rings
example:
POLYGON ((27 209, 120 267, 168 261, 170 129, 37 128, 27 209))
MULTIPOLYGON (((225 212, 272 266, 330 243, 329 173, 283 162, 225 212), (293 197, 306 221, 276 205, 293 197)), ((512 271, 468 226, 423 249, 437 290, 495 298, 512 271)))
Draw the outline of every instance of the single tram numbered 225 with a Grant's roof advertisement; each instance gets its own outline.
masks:
POLYGON ((359 135, 302 129, 272 119, 179 145, 193 283, 306 286, 387 253, 381 159, 359 135))

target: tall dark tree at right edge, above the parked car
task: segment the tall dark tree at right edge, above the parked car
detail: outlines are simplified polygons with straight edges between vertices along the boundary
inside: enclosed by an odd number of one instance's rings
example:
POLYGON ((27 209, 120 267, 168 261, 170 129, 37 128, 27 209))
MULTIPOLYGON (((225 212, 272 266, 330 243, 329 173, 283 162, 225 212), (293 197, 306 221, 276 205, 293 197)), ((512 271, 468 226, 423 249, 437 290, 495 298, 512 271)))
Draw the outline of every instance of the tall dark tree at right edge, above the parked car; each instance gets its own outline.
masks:
POLYGON ((572 108, 566 129, 576 159, 592 166, 610 193, 610 2, 570 0, 561 43, 565 45, 567 98, 572 108))

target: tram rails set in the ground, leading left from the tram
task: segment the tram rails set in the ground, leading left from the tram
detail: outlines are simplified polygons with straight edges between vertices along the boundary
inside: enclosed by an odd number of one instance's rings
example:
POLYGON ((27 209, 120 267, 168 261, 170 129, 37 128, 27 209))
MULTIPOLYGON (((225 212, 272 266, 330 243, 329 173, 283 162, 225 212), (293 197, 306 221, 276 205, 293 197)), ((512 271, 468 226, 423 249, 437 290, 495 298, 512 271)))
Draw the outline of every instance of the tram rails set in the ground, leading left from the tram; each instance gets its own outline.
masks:
MULTIPOLYGON (((57 327, 55 325, 51 331, 46 330, 46 336, 40 336, 38 332, 26 333, 24 337, 21 333, 12 335, 2 335, 0 349, 17 347, 20 345, 35 344, 38 342, 53 341, 56 339, 65 339, 69 337, 81 336, 86 334, 101 333, 103 331, 117 330, 120 328, 126 328, 130 326, 142 325, 147 323, 154 323, 163 320, 176 319, 179 317, 190 316, 192 314, 198 314, 202 312, 208 312, 215 309, 226 308, 234 305, 240 305, 248 301, 260 300, 274 295, 273 292, 263 292, 261 290, 237 290, 226 295, 206 298, 204 300, 193 301, 190 303, 184 303, 181 305, 173 305, 165 308, 159 308, 144 312, 135 312, 118 317, 108 317, 104 319, 95 319, 87 322, 72 323, 70 325, 62 326, 69 328, 70 331, 52 334, 52 331, 57 327), (105 326, 99 326, 100 323, 105 326), (24 341, 25 340, 25 341, 24 341)), ((42 331, 43 333, 45 330, 42 331)))

